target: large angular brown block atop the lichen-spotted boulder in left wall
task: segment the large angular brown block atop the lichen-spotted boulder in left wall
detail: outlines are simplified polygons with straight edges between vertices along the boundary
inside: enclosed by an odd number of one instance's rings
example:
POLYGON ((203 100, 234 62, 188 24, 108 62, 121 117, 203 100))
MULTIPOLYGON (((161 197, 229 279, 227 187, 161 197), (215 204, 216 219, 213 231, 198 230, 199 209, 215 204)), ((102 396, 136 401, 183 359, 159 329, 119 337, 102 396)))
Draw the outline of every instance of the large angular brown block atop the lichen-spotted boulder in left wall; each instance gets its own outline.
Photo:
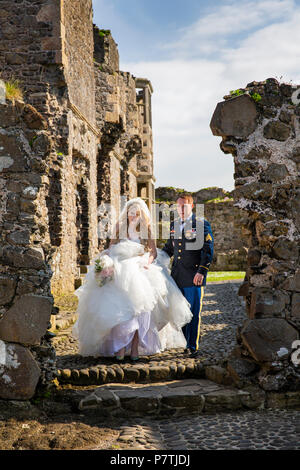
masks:
POLYGON ((0 338, 4 341, 36 345, 46 333, 51 316, 52 299, 24 295, 0 320, 0 338))

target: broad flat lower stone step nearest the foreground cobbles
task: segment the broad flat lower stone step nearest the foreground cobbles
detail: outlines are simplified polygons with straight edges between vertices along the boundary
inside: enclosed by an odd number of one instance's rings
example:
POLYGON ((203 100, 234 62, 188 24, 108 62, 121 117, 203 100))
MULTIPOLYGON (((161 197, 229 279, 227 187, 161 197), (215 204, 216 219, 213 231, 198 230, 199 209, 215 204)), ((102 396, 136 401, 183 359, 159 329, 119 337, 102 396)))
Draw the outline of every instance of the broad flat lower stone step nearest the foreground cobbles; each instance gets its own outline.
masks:
POLYGON ((86 390, 75 406, 81 413, 99 416, 168 417, 262 409, 265 393, 255 388, 238 390, 210 380, 188 379, 150 385, 103 385, 86 390))

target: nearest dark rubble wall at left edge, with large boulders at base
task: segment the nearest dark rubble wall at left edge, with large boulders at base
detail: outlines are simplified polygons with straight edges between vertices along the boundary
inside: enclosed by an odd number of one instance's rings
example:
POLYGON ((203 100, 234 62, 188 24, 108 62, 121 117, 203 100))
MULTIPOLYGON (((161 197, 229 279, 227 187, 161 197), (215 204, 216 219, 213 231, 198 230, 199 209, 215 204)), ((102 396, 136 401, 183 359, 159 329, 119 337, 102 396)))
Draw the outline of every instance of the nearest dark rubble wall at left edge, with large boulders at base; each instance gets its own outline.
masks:
POLYGON ((47 122, 31 105, 0 105, 0 398, 30 398, 55 370, 44 337, 53 305, 48 143, 47 122))

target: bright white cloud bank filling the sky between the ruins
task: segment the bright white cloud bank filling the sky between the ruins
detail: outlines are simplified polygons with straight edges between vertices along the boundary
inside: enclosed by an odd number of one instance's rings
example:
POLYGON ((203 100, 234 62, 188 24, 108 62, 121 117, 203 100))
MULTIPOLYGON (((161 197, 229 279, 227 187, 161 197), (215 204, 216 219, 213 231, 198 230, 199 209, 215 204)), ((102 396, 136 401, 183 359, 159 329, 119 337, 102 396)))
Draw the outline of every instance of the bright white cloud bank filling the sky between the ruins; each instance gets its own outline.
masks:
POLYGON ((206 186, 233 189, 232 157, 221 152, 220 138, 209 128, 213 111, 224 94, 253 80, 283 76, 284 81, 300 83, 299 24, 300 8, 290 0, 235 3, 185 31, 186 46, 178 46, 178 58, 122 64, 123 70, 148 77, 154 87, 157 185, 191 191, 206 186), (231 29, 251 31, 230 47, 226 37, 231 29), (187 46, 197 48, 199 35, 205 47, 216 38, 223 49, 205 58, 198 53, 191 60, 187 46))

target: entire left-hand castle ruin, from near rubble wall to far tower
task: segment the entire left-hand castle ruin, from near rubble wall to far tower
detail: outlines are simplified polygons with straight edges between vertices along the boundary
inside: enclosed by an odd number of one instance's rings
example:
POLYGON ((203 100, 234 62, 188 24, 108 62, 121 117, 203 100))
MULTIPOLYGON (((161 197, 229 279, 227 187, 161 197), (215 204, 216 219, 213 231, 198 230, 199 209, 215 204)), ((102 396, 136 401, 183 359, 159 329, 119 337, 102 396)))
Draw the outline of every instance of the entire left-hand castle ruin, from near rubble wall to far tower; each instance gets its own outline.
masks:
POLYGON ((154 201, 153 90, 119 70, 92 0, 2 0, 0 78, 24 91, 0 104, 0 399, 22 400, 54 377, 52 295, 101 246, 99 205, 154 201))

